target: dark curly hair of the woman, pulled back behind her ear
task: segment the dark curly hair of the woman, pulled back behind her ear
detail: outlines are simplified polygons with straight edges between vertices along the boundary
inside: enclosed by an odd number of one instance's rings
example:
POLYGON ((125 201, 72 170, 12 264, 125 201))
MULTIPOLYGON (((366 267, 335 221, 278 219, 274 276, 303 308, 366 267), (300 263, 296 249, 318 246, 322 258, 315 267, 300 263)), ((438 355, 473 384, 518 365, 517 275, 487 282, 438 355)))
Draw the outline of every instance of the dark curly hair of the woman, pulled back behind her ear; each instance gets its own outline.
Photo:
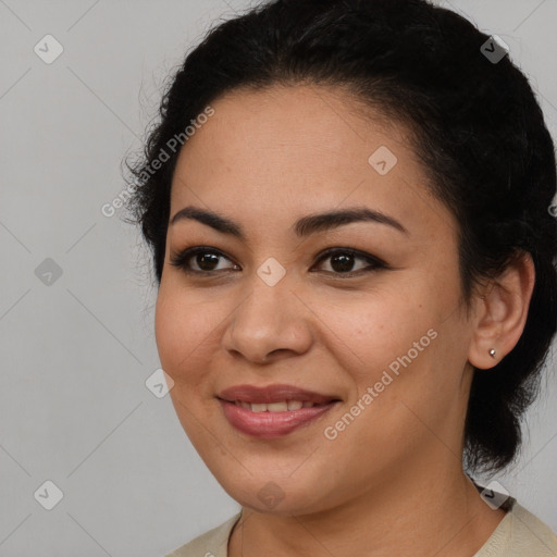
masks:
MULTIPOLYGON (((490 37, 425 0, 273 0, 221 23, 187 53, 164 92, 160 122, 131 165, 132 219, 152 249, 160 284, 172 176, 180 150, 149 174, 169 140, 216 98, 240 87, 343 86, 414 136, 432 190, 459 223, 463 299, 517 255, 531 253, 535 287, 517 346, 475 372, 466 462, 499 470, 521 442, 557 327, 557 222, 552 137, 527 77, 490 37)), ((363 117, 363 115, 362 115, 363 117)), ((242 138, 238 138, 242 140, 242 138)))

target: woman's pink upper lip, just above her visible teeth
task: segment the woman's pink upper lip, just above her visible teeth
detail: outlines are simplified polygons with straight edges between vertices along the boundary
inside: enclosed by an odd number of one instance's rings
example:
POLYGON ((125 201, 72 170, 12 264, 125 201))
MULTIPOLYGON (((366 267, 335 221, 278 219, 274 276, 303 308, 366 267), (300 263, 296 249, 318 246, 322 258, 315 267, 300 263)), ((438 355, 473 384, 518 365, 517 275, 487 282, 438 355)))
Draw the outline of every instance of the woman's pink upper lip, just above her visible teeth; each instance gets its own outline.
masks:
POLYGON ((219 393, 218 398, 234 403, 253 403, 270 404, 281 403, 282 400, 301 400, 322 405, 333 400, 339 400, 335 396, 322 395, 305 388, 298 388, 293 385, 268 385, 258 387, 255 385, 235 385, 219 393))

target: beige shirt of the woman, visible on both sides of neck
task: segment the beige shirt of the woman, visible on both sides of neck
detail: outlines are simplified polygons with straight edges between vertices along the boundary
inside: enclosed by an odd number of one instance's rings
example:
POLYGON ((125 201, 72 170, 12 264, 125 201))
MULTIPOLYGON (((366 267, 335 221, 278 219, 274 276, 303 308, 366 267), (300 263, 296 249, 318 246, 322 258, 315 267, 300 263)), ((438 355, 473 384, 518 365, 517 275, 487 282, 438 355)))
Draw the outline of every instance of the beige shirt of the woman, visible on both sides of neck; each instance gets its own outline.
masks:
MULTIPOLYGON (((165 557, 227 557, 228 537, 239 517, 240 512, 165 557)), ((557 536, 510 498, 504 519, 472 557, 557 557, 557 536)))

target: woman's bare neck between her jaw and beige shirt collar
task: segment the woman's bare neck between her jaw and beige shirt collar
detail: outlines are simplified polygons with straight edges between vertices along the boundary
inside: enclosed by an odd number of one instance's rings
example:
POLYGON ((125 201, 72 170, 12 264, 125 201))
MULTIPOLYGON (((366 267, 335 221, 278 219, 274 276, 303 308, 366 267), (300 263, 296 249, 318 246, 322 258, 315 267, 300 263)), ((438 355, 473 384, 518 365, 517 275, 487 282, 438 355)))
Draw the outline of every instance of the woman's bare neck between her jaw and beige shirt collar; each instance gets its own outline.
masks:
POLYGON ((228 556, 470 557, 505 512, 481 499, 454 455, 445 450, 445 457, 434 460, 436 466, 412 467, 413 473, 407 467, 391 471, 357 498, 311 515, 275 516, 244 508, 228 556))

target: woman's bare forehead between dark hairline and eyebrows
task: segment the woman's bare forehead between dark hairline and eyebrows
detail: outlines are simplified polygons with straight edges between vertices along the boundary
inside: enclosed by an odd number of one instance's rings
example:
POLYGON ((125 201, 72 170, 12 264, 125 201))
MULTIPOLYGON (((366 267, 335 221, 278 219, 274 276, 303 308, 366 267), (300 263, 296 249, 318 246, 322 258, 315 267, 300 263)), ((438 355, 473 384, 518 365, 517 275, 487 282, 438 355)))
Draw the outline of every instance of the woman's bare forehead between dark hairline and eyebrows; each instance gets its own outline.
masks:
POLYGON ((342 89, 240 89, 211 107, 214 114, 180 154, 171 214, 200 202, 269 218, 364 203, 397 220, 441 218, 454 227, 430 194, 409 131, 342 89))

